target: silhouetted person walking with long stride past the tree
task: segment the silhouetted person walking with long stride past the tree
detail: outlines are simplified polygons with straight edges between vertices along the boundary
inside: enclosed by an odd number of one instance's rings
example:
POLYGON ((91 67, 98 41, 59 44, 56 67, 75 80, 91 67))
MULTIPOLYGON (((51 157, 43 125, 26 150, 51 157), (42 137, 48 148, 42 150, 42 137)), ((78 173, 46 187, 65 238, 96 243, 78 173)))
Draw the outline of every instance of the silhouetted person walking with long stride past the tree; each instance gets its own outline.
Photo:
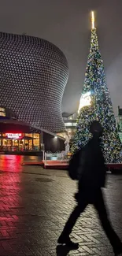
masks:
POLYGON ((102 228, 109 238, 115 255, 119 255, 122 253, 122 243, 110 224, 102 195, 102 187, 105 187, 105 162, 100 147, 100 138, 102 137, 101 124, 98 121, 94 121, 91 124, 90 132, 93 134, 93 138, 83 150, 79 150, 79 168, 76 174, 79 179, 79 192, 76 194, 77 206, 68 218, 57 243, 66 244, 72 249, 79 247, 78 243, 73 243, 70 240, 69 235, 80 213, 83 213, 88 204, 93 204, 98 211, 102 228))

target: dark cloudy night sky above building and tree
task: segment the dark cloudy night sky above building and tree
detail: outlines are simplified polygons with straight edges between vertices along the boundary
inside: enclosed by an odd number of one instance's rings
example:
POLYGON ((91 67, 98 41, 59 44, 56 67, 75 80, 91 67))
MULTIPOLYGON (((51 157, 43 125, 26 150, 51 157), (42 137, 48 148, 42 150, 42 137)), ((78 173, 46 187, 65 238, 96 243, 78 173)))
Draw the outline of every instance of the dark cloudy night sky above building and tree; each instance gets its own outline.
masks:
POLYGON ((62 111, 79 106, 96 11, 98 42, 113 109, 122 107, 122 0, 0 0, 0 31, 38 36, 58 46, 69 66, 62 111))

